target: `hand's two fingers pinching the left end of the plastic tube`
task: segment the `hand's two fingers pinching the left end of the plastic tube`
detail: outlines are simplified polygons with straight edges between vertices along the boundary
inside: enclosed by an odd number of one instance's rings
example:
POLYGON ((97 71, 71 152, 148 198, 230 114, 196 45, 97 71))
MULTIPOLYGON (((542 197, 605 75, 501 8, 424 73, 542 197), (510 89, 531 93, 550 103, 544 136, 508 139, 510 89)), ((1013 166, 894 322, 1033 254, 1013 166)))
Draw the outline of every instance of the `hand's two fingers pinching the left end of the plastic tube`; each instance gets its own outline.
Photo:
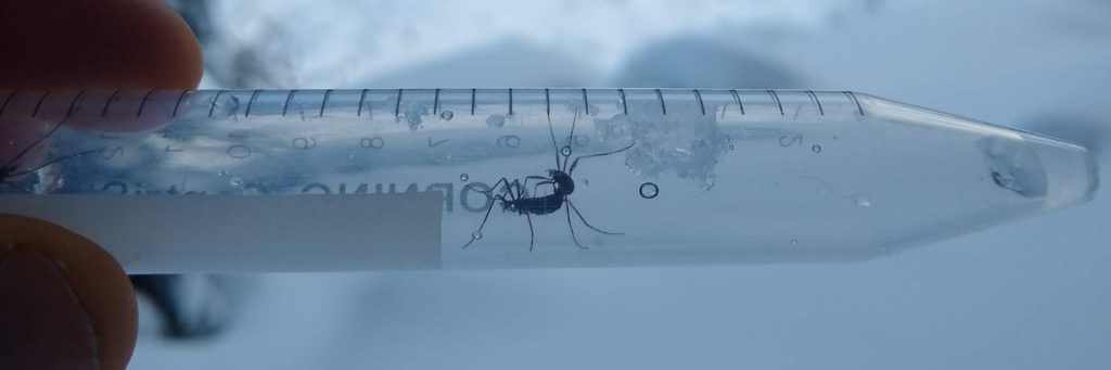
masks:
MULTIPOLYGON (((0 90, 190 89, 200 76, 197 40, 160 0, 0 8, 0 90)), ((23 127, 38 126, 0 118, 0 164, 14 164, 23 150, 17 142, 33 137, 12 129, 23 127)), ((134 349, 136 310, 127 274, 96 243, 0 214, 0 369, 123 369, 134 349)))

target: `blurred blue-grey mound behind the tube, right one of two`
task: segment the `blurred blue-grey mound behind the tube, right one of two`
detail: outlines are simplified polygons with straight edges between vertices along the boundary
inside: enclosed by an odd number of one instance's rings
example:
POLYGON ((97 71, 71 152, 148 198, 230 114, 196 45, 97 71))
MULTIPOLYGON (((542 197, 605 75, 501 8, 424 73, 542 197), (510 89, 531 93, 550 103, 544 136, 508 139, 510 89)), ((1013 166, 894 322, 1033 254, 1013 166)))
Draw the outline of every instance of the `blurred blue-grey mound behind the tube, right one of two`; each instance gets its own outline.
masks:
POLYGON ((802 84, 794 73, 755 53, 694 37, 650 46, 621 70, 614 86, 629 88, 790 89, 802 84))

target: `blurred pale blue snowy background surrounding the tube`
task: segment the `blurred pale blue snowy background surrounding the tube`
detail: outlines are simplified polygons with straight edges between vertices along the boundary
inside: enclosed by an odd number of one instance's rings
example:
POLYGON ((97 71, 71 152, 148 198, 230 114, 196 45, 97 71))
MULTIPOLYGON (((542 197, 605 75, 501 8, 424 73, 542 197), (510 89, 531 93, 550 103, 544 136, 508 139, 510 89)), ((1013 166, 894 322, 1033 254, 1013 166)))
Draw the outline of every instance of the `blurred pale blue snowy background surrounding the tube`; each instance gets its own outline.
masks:
MULTIPOLYGON (((178 6, 203 88, 859 90, 1111 156, 1103 0, 178 6)), ((223 330, 143 300, 132 368, 1107 369, 1105 198, 861 263, 194 278, 223 330)))

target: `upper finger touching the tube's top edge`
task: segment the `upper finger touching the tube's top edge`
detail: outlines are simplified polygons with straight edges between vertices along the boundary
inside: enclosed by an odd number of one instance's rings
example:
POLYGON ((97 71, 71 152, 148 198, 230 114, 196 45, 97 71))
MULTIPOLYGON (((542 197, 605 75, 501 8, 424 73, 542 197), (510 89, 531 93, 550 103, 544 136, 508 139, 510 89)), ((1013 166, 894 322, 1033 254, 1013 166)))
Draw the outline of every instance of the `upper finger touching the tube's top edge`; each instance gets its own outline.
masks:
POLYGON ((0 12, 0 88, 189 89, 201 50, 164 1, 14 1, 0 12))

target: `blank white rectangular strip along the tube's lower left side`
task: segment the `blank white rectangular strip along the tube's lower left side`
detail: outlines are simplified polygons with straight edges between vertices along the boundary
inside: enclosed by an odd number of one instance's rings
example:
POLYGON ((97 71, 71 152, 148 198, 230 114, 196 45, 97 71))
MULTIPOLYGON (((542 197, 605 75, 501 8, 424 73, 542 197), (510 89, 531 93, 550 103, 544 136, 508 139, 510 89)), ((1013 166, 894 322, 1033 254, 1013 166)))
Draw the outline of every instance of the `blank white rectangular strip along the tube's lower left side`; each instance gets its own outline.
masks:
POLYGON ((131 273, 438 269, 442 204, 438 191, 0 197, 0 212, 81 233, 131 273))

